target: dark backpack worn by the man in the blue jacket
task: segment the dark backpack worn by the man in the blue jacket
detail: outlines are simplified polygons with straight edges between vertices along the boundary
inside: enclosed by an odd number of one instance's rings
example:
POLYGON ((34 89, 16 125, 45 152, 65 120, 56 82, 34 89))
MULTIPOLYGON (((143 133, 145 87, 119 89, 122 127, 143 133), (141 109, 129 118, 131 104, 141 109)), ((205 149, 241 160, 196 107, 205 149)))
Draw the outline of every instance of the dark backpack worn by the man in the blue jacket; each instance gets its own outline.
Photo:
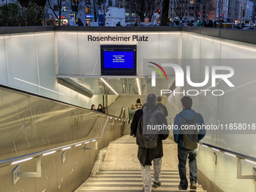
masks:
POLYGON ((183 126, 183 127, 190 126, 192 128, 191 130, 190 129, 181 130, 181 133, 183 135, 182 145, 184 146, 184 148, 187 148, 187 149, 198 148, 199 130, 197 130, 197 124, 198 124, 197 123, 197 114, 191 123, 187 123, 187 120, 184 117, 182 117, 182 115, 181 115, 181 118, 184 121, 184 123, 182 123, 181 126, 183 126))

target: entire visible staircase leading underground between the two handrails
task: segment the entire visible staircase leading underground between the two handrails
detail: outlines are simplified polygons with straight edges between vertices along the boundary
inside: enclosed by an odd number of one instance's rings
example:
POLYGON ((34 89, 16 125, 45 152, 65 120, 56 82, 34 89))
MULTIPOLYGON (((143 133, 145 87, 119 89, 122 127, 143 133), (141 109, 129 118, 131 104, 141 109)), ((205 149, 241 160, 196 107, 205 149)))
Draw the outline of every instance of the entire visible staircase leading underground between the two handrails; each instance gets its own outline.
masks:
MULTIPOLYGON (((131 136, 123 136, 108 146, 107 154, 102 168, 78 187, 75 192, 136 192, 142 191, 142 171, 137 158, 136 139, 131 136)), ((160 181, 162 185, 154 188, 154 191, 204 191, 200 184, 197 190, 190 190, 189 169, 187 178, 189 187, 187 190, 178 190, 178 157, 177 145, 171 140, 163 142, 163 163, 160 181)), ((153 166, 151 166, 153 182, 153 166)))

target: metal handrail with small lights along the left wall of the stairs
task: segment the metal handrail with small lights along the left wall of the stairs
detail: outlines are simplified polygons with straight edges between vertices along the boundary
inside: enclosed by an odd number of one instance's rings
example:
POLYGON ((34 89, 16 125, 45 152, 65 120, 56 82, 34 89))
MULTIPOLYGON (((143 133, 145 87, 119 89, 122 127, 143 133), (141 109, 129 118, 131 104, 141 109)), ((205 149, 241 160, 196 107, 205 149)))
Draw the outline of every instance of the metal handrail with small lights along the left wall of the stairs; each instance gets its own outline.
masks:
MULTIPOLYGON (((10 166, 11 163, 17 162, 19 160, 26 160, 27 158, 31 158, 31 157, 32 157, 32 159, 37 158, 37 157, 40 157, 44 154, 50 153, 52 151, 62 151, 62 149, 64 149, 64 148, 75 147, 75 145, 79 145, 79 144, 82 144, 82 143, 87 144, 89 142, 96 142, 98 139, 102 138, 102 134, 104 133, 105 126, 108 123, 108 119, 109 119, 109 116, 105 120, 105 124, 102 128, 102 132, 100 133, 99 137, 96 137, 96 138, 93 138, 93 139, 87 139, 87 140, 84 140, 84 141, 81 141, 81 142, 75 142, 75 143, 72 143, 72 144, 69 144, 69 145, 62 145, 62 146, 56 147, 56 148, 50 148, 50 149, 47 149, 47 150, 44 150, 44 151, 38 151, 38 152, 35 152, 35 153, 32 153, 32 154, 25 154, 25 155, 22 155, 22 156, 19 156, 19 157, 12 157, 12 158, 9 158, 9 159, 0 160, 0 168, 3 167, 3 166, 10 166)), ((123 121, 123 119, 122 119, 122 121, 123 121)))

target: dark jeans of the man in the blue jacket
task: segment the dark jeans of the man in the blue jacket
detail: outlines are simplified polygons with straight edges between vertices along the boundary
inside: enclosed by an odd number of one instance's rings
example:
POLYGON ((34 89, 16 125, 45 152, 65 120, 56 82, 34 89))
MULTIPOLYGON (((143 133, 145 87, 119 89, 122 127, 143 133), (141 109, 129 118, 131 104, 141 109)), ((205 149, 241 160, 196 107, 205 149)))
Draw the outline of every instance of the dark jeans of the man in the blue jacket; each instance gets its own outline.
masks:
POLYGON ((198 154, 198 148, 188 151, 178 146, 178 172, 181 178, 180 185, 184 190, 187 190, 187 177, 186 177, 187 155, 189 159, 190 181, 197 182, 197 154, 198 154))

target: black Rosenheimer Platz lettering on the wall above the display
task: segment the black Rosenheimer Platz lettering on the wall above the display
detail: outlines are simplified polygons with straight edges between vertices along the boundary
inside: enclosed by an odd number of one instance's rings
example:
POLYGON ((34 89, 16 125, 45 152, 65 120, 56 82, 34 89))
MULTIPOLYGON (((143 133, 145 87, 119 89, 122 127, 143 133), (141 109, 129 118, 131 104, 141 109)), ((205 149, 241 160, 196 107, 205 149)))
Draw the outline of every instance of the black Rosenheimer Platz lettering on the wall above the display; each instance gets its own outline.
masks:
POLYGON ((148 41, 148 37, 145 35, 139 36, 139 35, 133 35, 133 36, 123 36, 120 37, 118 35, 108 35, 108 36, 93 36, 93 35, 87 35, 88 41, 148 41))

